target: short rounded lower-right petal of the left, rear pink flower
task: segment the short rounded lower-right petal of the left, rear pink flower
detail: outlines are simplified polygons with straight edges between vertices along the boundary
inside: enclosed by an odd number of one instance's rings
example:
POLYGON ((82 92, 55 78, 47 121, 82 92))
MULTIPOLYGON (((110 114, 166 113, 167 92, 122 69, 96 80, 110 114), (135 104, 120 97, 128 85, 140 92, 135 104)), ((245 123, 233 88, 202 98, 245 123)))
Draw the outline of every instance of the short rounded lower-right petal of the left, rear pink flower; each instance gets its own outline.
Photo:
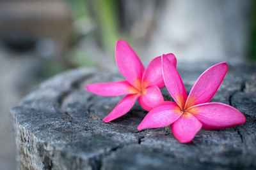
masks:
POLYGON ((148 86, 144 93, 141 94, 138 101, 141 107, 147 111, 152 110, 164 101, 162 93, 156 85, 148 86))

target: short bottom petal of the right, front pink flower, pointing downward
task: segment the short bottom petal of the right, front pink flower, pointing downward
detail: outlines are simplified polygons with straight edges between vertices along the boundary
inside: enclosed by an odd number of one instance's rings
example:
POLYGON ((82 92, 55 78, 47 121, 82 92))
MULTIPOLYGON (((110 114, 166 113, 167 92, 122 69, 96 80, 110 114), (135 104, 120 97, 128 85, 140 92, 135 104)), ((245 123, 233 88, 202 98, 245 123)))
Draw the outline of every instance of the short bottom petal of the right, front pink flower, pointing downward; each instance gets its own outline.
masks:
POLYGON ((171 125, 173 135, 181 143, 192 141, 201 127, 201 122, 188 112, 183 113, 182 116, 171 125))

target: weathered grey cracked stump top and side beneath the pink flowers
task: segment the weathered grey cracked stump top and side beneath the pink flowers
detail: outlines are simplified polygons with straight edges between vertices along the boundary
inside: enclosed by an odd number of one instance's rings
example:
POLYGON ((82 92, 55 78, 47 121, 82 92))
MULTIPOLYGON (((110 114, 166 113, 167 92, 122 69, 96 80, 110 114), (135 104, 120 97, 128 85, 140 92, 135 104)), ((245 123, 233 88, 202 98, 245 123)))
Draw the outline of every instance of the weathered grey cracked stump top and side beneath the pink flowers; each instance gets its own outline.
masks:
MULTIPOLYGON (((211 65, 178 66, 188 92, 211 65)), ((122 80, 119 73, 81 68, 54 76, 11 109, 20 169, 256 169, 255 79, 255 64, 229 66, 212 99, 241 111, 244 125, 202 129, 182 144, 170 127, 138 131, 147 114, 138 103, 124 117, 102 122, 122 97, 97 96, 84 87, 122 80)))

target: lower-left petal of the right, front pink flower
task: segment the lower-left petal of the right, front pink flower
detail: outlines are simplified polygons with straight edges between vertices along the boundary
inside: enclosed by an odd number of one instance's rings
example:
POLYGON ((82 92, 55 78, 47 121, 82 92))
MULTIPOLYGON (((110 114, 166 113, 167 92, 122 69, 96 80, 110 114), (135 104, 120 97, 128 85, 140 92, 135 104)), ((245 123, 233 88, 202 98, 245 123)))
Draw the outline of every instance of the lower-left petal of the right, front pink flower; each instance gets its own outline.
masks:
POLYGON ((180 117, 182 111, 179 106, 172 101, 164 101, 146 115, 138 126, 138 130, 145 128, 159 128, 170 125, 180 117))

